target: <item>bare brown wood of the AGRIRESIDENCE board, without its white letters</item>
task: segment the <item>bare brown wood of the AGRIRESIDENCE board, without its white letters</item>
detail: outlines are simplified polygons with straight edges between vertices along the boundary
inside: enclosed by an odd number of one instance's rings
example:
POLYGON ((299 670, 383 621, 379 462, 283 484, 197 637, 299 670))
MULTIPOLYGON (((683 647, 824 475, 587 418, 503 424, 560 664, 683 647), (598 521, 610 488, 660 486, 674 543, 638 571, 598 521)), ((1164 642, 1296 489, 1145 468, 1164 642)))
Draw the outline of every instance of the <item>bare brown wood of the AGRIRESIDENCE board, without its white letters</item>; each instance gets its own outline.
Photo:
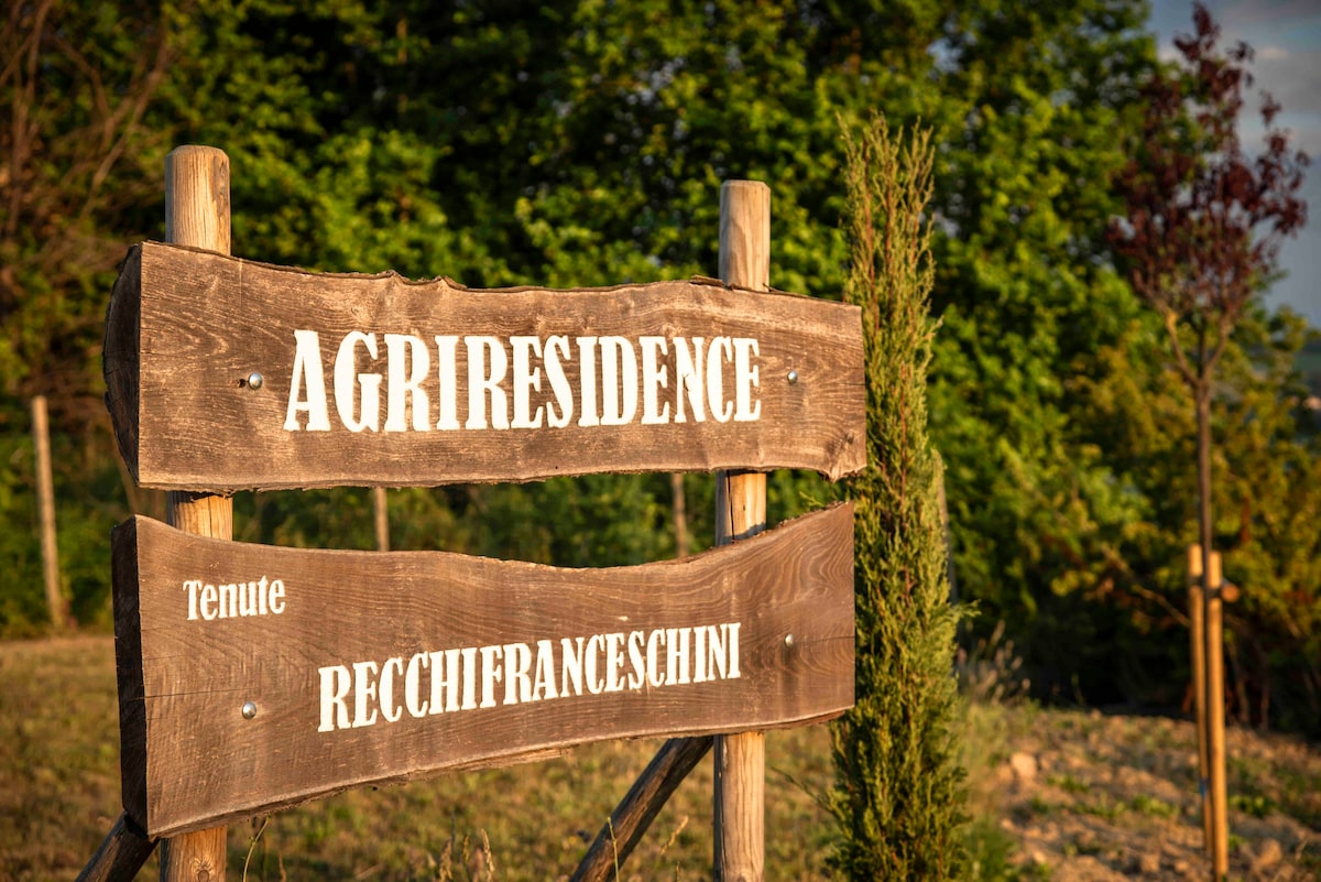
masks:
MULTIPOLYGON (((386 374, 384 353, 370 367, 365 353, 359 358, 359 370, 386 374)), ((437 360, 432 354, 433 371, 437 360)), ((674 351, 662 364, 663 395, 674 399, 674 351)), ((464 421, 462 354, 456 370, 464 421)), ((802 467, 838 478, 865 465, 857 308, 709 281, 469 290, 444 279, 316 275, 144 243, 115 285, 104 372, 120 452, 145 487, 230 492, 721 467, 802 467), (338 345, 354 330, 428 345, 437 335, 753 338, 760 419, 720 423, 708 413, 662 425, 584 426, 575 419, 556 429, 351 432, 332 403, 330 430, 291 432, 284 425, 300 329, 320 335, 328 395, 338 345), (260 388, 248 386, 252 372, 262 375, 260 388)), ((439 393, 440 380, 432 380, 439 393)), ((503 383, 513 395, 513 380, 503 383)), ((552 400, 546 371, 540 383, 530 393, 532 408, 552 400)))

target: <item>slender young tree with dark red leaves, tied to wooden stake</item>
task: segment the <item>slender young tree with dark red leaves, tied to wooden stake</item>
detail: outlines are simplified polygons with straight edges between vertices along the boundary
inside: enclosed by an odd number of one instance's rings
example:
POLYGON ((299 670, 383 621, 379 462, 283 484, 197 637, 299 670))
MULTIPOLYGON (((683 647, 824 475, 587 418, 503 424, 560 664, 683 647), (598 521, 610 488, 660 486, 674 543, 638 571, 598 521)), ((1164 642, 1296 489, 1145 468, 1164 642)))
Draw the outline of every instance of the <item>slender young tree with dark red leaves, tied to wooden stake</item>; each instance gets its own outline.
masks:
MULTIPOLYGON (((1147 85, 1143 139, 1118 180, 1127 214, 1112 224, 1111 240, 1133 289, 1161 316, 1176 370, 1196 401, 1201 611, 1210 662, 1221 655, 1219 597, 1213 593, 1219 585, 1210 581, 1213 378, 1244 306, 1277 275, 1280 244, 1306 222, 1299 191, 1308 157, 1291 151, 1288 133, 1275 124, 1280 104, 1269 95, 1262 96, 1266 147, 1255 156, 1243 151, 1239 119, 1252 86, 1252 50, 1238 42, 1222 53, 1219 26, 1201 4, 1193 7, 1193 34, 1174 40, 1182 62, 1159 70, 1147 85)), ((1213 878, 1219 878, 1227 861, 1225 767, 1217 746, 1223 696, 1213 689, 1207 675, 1206 829, 1213 878)))

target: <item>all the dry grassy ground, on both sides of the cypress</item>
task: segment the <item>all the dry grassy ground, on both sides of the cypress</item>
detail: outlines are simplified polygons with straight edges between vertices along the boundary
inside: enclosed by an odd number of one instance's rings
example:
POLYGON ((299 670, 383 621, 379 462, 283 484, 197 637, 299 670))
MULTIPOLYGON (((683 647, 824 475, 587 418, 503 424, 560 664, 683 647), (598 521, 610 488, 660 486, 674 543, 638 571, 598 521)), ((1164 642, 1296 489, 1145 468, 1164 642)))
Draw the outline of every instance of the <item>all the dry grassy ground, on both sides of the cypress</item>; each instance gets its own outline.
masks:
MULTIPOLYGON (((1036 708, 1007 692, 1004 681, 995 680, 989 691, 964 691, 959 743, 968 771, 972 879, 1067 879, 1070 862, 1089 860, 1091 850, 1111 841, 1096 834, 1054 853, 1041 850, 1040 842, 1028 852, 1011 827, 1052 828, 1081 819, 1087 829, 1107 823, 1132 829, 1188 828, 1196 836, 1196 812, 1188 813, 1196 804, 1196 770, 1189 767, 1196 746, 1176 742, 1170 734, 1176 724, 1135 718, 1123 722, 1123 734, 1107 735, 1099 714, 1036 708), (1169 749, 1155 749, 1165 742, 1169 749), (1124 745, 1129 750, 1123 755, 1114 750, 1124 745), (1053 757, 1053 764, 1038 772, 1040 792, 1029 790, 1011 799, 1016 786, 1009 759, 1025 749, 1044 762, 1053 757), (1075 764, 1078 757, 1086 763, 1075 764), (1131 776, 1164 775, 1173 790, 1160 796, 1132 788, 1107 794, 1125 768, 1131 776)), ((1186 741, 1188 725, 1178 726, 1186 741)), ((1291 846, 1297 852, 1291 861, 1321 875, 1316 747, 1273 739, 1268 750, 1247 733, 1230 734, 1235 817, 1268 815, 1273 821, 1283 813, 1304 824, 1312 832, 1296 849, 1291 846)), ((658 746, 655 741, 589 745, 555 761, 363 788, 232 824, 229 878, 565 878, 658 746)), ((827 875, 834 821, 819 797, 832 780, 824 726, 768 735, 768 879, 827 875)), ((104 636, 0 642, 0 879, 74 878, 119 807, 112 642, 104 636)), ((711 813, 707 759, 660 812, 617 878, 709 878, 711 813)), ((156 878, 155 864, 153 857, 140 878, 156 878)))

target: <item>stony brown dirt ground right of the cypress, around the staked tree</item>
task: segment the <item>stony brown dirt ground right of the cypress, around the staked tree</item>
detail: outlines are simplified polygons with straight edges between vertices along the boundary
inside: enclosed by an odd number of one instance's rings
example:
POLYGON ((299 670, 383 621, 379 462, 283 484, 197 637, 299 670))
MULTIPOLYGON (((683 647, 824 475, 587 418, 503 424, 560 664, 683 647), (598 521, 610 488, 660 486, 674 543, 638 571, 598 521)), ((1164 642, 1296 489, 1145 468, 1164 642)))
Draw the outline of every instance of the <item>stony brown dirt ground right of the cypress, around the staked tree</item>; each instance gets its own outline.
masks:
MULTIPOLYGON (((989 799, 1025 878, 1207 879, 1192 722, 1012 709, 989 799)), ((1321 877, 1321 753, 1227 733, 1231 879, 1321 877)))

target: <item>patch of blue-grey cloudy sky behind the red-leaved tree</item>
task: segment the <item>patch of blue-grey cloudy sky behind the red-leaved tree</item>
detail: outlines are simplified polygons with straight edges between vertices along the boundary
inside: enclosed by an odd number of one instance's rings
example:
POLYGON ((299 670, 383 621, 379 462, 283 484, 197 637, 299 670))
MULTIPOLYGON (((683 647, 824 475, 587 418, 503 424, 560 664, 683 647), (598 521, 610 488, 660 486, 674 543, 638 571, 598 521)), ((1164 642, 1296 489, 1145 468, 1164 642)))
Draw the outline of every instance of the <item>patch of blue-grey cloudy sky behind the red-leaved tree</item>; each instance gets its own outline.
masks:
MULTIPOLYGON (((1193 32, 1192 0, 1151 0, 1151 26, 1162 58, 1177 57, 1174 34, 1193 32)), ((1271 306, 1288 304, 1313 327, 1321 327, 1321 0, 1203 0, 1221 25, 1219 46, 1242 40, 1255 58, 1252 91, 1268 91, 1283 104, 1276 125, 1289 144, 1312 157, 1303 185, 1308 224, 1280 248, 1288 277, 1267 292, 1271 306)), ((1239 136, 1246 152, 1262 145, 1259 112, 1244 111, 1239 136)))

